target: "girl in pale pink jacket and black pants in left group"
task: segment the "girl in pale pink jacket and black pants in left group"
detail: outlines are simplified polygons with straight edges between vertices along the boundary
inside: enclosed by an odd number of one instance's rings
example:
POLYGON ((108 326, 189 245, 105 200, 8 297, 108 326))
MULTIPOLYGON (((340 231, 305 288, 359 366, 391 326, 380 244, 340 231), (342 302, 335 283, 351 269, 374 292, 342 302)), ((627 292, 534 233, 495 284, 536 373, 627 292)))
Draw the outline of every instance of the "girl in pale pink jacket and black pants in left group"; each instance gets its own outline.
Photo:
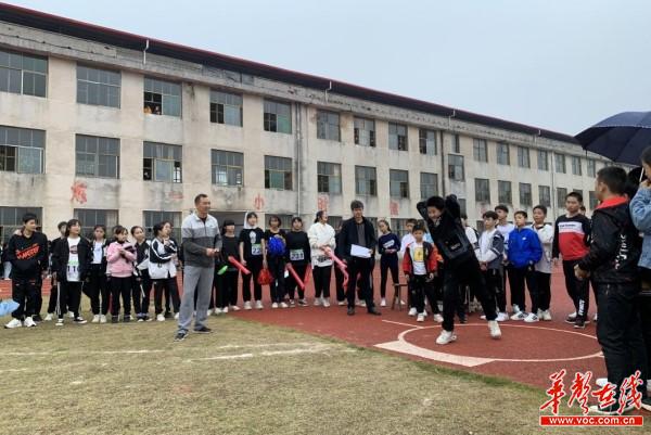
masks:
POLYGON ((125 306, 125 322, 131 321, 131 284, 133 280, 133 261, 136 247, 127 242, 128 231, 125 227, 117 226, 113 229, 115 242, 108 245, 106 260, 108 266, 106 274, 111 277, 111 322, 117 323, 119 319, 119 296, 125 306))

